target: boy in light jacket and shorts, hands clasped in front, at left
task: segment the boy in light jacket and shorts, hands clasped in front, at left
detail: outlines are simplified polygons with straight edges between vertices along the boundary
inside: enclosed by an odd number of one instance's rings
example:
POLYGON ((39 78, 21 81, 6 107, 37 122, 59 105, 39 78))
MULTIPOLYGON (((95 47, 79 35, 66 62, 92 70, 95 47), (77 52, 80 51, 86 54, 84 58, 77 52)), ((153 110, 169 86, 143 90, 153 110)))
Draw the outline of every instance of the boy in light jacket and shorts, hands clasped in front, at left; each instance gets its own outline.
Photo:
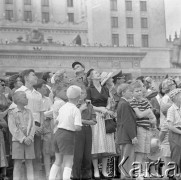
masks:
POLYGON ((32 159, 35 159, 35 127, 33 116, 31 111, 25 108, 28 104, 25 92, 15 92, 13 101, 17 107, 9 112, 8 117, 8 127, 12 134, 13 179, 21 179, 22 160, 25 160, 27 179, 34 180, 32 159))

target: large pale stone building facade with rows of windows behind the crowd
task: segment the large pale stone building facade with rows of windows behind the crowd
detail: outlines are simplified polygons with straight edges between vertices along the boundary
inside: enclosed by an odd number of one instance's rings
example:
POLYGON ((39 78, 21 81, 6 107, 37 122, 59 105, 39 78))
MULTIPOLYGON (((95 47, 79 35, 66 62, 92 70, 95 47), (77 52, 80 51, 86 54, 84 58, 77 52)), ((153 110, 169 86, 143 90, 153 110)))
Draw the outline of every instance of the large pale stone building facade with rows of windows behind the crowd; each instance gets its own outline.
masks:
POLYGON ((0 0, 0 71, 71 71, 79 60, 87 69, 178 76, 165 23, 164 0, 0 0))

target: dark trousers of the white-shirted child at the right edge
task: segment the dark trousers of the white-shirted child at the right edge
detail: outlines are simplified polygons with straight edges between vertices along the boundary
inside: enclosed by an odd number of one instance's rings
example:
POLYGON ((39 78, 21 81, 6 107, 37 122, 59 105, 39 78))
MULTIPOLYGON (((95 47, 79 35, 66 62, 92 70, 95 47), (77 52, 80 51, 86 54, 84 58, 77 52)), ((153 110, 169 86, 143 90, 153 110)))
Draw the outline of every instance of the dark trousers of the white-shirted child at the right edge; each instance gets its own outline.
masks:
POLYGON ((169 132, 169 143, 171 150, 171 160, 181 168, 181 134, 169 132))

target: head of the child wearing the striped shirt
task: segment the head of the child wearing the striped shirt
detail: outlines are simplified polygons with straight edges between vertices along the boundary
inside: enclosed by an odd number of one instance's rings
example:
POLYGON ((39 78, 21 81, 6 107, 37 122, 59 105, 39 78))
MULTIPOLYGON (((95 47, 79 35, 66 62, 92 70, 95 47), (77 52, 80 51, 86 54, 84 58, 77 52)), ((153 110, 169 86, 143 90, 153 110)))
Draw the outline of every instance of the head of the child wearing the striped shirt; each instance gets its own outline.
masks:
POLYGON ((133 97, 137 100, 142 99, 143 97, 143 86, 140 83, 140 81, 136 80, 132 82, 131 84, 132 90, 133 90, 133 97))

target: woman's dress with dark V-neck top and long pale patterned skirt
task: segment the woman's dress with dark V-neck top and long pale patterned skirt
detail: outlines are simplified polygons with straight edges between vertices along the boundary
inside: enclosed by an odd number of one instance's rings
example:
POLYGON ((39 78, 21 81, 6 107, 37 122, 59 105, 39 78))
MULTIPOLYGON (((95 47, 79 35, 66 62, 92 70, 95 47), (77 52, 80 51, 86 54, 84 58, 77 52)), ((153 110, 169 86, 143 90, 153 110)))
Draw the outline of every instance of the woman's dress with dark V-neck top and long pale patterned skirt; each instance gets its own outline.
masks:
MULTIPOLYGON (((108 97, 109 90, 104 86, 100 93, 93 85, 87 89, 87 99, 91 100, 93 106, 106 107, 108 97)), ((115 154, 114 133, 106 134, 104 115, 96 112, 96 120, 97 124, 92 126, 92 155, 98 157, 115 154)))

